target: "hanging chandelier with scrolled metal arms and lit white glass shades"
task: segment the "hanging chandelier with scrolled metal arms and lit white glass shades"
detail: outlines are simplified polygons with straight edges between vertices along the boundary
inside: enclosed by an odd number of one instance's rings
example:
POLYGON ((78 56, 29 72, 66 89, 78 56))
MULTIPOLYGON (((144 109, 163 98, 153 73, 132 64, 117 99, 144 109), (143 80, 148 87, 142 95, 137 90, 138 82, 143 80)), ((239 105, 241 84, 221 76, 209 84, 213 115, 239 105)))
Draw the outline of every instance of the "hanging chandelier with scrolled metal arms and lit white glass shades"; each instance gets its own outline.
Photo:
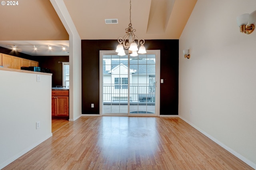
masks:
POLYGON ((144 54, 146 53, 146 48, 144 47, 145 40, 138 39, 137 36, 135 36, 134 32, 136 32, 135 29, 132 29, 132 21, 131 21, 131 0, 130 0, 130 24, 129 27, 126 28, 126 34, 124 37, 118 38, 118 45, 116 47, 116 52, 118 55, 123 56, 125 55, 124 48, 128 49, 128 53, 130 53, 130 56, 137 56, 138 53, 144 54), (137 42, 137 43, 136 43, 137 42), (140 48, 138 49, 138 46, 140 44, 140 48), (139 51, 138 51, 139 50, 139 51), (137 53, 138 51, 138 53, 137 53))

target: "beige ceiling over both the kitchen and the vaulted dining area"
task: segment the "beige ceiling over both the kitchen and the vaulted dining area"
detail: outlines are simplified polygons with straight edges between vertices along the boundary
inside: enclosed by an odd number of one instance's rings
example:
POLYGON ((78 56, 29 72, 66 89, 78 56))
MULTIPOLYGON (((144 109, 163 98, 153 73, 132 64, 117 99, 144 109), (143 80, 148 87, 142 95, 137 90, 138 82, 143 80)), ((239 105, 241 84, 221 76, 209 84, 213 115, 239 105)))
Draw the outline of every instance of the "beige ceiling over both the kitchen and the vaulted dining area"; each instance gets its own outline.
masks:
MULTIPOLYGON (((132 0, 131 23, 144 40, 179 39, 197 0, 132 0)), ((64 0, 82 40, 115 40, 130 23, 129 0, 64 0), (118 19, 118 24, 105 24, 118 19)), ((68 33, 50 0, 1 6, 0 46, 29 55, 69 55, 68 33), (29 10, 28 10, 29 9, 29 10), (34 50, 34 45, 38 50, 34 50), (48 45, 54 48, 48 50, 48 45)))

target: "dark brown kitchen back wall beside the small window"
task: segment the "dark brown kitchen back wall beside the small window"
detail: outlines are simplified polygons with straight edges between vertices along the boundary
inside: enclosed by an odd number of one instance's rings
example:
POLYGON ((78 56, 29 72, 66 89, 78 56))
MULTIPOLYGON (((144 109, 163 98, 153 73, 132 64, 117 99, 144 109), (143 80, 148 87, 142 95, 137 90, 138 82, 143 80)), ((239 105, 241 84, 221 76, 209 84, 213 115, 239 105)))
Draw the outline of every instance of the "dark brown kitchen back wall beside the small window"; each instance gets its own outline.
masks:
POLYGON ((62 63, 58 61, 68 62, 69 56, 36 56, 39 67, 50 69, 52 72, 52 87, 62 85, 62 63))

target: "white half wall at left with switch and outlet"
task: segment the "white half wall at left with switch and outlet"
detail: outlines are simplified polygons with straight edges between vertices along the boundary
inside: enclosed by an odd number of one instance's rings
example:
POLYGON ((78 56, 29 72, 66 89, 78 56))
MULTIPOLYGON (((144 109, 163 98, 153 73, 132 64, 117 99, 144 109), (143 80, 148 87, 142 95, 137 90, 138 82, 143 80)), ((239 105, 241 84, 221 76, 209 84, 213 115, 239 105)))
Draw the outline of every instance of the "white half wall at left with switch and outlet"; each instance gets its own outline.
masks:
POLYGON ((52 75, 36 82, 36 74, 0 69, 0 169, 52 136, 51 87, 52 75))

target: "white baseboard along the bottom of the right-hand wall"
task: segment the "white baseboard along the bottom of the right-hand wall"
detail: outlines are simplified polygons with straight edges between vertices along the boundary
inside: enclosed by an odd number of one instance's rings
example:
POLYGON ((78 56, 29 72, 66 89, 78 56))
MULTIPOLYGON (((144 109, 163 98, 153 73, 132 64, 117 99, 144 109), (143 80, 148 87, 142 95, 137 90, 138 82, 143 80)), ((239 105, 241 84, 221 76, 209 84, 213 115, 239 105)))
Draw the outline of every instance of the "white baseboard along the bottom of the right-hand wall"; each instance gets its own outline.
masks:
POLYGON ((201 132, 202 134, 204 134, 205 136, 207 136, 208 138, 210 138, 212 141, 214 141, 216 144, 220 145, 222 148, 226 149, 228 152, 230 152, 231 154, 233 154, 234 156, 236 156, 237 158, 239 158, 240 160, 242 160, 243 162, 245 162, 246 164, 248 164, 249 166, 251 166, 252 168, 256 169, 256 164, 254 164, 252 161, 246 159, 244 156, 242 156, 241 154, 237 153, 236 151, 232 150, 231 148, 229 148, 228 146, 226 146, 225 144, 223 144, 222 142, 220 142, 219 140, 217 140, 216 138, 212 137, 210 134, 204 132, 204 130, 200 129, 199 127, 197 127, 196 125, 194 125, 193 123, 191 123, 190 121, 184 119, 183 117, 179 116, 180 119, 182 119, 183 121, 185 121, 186 123, 188 123, 190 126, 194 127, 196 130, 198 130, 199 132, 201 132))

